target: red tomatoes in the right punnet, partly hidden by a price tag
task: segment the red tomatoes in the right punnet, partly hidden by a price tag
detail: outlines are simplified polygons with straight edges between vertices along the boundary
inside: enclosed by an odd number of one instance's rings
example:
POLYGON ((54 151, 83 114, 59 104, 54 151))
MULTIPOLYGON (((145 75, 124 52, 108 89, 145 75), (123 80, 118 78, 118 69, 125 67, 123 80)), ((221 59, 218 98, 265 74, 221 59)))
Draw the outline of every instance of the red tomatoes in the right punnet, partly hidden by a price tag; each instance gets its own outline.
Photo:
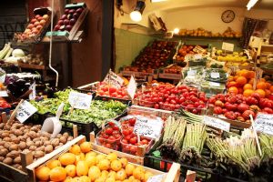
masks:
POLYGON ((121 147, 122 152, 136 155, 137 146, 147 146, 150 143, 150 139, 140 136, 140 141, 137 142, 137 136, 133 133, 136 123, 136 117, 127 118, 121 122, 122 127, 122 140, 121 147))

